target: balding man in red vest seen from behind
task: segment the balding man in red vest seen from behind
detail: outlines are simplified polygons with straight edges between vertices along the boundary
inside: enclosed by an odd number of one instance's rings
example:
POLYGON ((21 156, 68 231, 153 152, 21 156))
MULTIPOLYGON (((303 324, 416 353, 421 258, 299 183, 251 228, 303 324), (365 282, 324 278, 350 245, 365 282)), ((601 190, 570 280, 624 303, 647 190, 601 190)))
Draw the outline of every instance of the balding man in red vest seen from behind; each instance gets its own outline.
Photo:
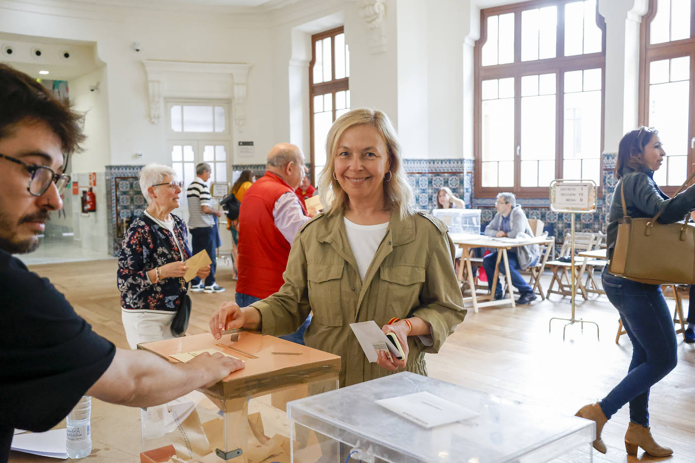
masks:
MULTIPOLYGON (((307 171, 299 146, 273 146, 265 169, 265 175, 246 191, 239 210, 236 303, 240 307, 280 289, 291 244, 310 218, 295 194, 307 171)), ((304 344, 310 320, 311 316, 284 339, 304 344)))

